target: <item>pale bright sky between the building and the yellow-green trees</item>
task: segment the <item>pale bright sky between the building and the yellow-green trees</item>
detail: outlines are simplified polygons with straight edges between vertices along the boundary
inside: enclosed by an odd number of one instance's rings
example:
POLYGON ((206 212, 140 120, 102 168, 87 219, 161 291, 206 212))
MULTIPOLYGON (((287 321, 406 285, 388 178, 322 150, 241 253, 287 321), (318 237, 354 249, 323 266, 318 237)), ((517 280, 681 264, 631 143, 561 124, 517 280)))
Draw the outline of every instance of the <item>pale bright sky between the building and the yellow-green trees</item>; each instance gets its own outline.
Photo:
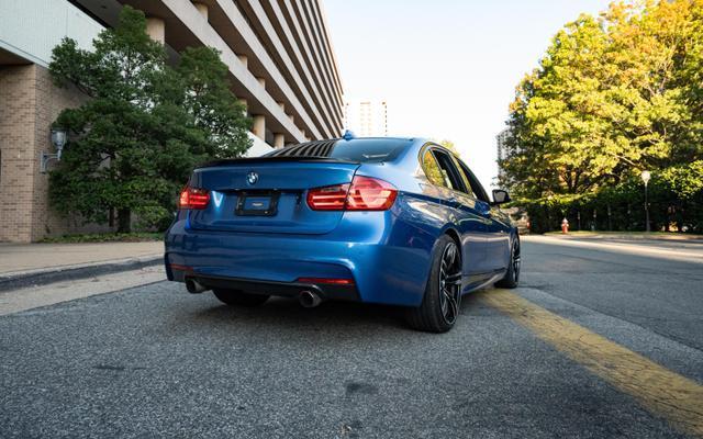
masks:
POLYGON ((321 0, 345 99, 388 102, 389 135, 455 143, 483 185, 515 86, 607 0, 321 0))

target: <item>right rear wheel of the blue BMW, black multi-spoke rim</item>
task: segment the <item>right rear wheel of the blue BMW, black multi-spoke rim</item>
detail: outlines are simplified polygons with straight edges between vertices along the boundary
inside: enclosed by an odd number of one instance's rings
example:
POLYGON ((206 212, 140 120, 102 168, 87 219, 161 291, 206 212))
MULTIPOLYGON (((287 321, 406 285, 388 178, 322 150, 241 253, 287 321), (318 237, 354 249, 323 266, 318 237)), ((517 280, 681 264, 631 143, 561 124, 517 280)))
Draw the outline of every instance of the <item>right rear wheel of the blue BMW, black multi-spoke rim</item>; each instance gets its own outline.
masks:
POLYGON ((454 327, 461 304, 461 250, 456 241, 443 235, 435 245, 429 279, 419 307, 408 308, 405 319, 413 329, 426 333, 446 333, 454 327), (448 252, 455 251, 455 261, 445 268, 448 252), (450 282, 447 281, 451 278, 450 282), (455 279, 457 278, 458 279, 455 279), (443 282, 444 278, 444 282, 443 282), (450 290, 450 291, 449 291, 450 290), (450 297, 454 299, 451 303, 450 297), (448 315, 450 312, 451 315, 448 315))

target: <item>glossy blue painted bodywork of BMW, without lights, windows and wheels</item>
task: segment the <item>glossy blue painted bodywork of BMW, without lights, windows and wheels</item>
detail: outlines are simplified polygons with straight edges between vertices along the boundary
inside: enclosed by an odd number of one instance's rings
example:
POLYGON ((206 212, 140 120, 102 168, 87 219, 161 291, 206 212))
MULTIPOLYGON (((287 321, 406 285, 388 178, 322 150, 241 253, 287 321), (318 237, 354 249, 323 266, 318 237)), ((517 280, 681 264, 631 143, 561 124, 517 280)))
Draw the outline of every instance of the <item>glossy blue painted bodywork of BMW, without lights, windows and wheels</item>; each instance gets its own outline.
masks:
POLYGON ((339 139, 345 147, 397 142, 399 153, 381 162, 245 160, 197 169, 194 188, 211 191, 203 211, 179 211, 166 234, 170 264, 201 275, 293 282, 298 278, 354 279, 362 302, 417 306, 422 303, 437 238, 449 234, 462 249, 464 292, 503 277, 510 237, 507 216, 472 194, 435 185, 419 157, 424 139, 339 139), (252 173, 258 181, 250 184, 252 173), (354 176, 386 180, 399 190, 382 212, 312 211, 311 188, 349 183, 354 176), (275 216, 235 215, 243 191, 280 192, 275 216))

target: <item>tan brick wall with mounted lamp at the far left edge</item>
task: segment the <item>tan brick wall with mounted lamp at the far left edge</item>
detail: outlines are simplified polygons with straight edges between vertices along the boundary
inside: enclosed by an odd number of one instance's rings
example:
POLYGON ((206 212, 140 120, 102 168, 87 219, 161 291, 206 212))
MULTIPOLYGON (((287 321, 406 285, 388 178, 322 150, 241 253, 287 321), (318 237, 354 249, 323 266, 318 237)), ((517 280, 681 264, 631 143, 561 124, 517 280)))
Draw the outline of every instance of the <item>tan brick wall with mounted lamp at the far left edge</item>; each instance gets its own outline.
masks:
POLYGON ((52 122, 82 99, 77 90, 55 87, 44 67, 0 66, 0 241, 29 243, 104 228, 83 226, 52 210, 48 175, 40 172, 41 151, 54 153, 52 122))

